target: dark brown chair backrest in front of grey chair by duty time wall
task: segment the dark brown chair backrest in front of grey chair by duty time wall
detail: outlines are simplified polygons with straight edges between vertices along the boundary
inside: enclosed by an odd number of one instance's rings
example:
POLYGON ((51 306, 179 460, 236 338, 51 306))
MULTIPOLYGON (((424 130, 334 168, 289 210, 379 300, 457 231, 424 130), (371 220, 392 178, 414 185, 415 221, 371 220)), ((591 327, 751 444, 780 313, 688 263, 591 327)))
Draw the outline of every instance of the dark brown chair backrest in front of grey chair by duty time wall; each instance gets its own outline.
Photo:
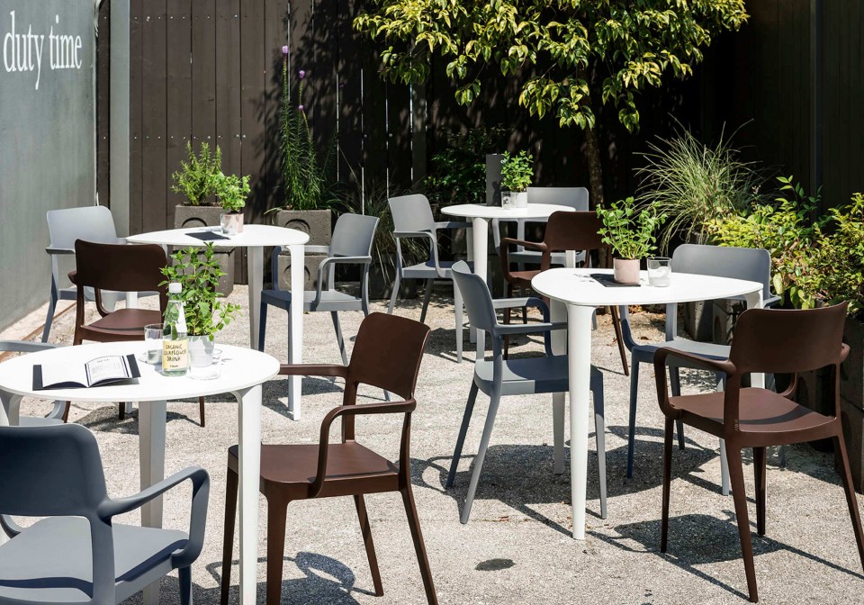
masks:
POLYGON ((161 269, 166 266, 165 250, 156 244, 129 246, 75 242, 76 284, 117 292, 159 293, 159 309, 165 311, 167 288, 161 269))

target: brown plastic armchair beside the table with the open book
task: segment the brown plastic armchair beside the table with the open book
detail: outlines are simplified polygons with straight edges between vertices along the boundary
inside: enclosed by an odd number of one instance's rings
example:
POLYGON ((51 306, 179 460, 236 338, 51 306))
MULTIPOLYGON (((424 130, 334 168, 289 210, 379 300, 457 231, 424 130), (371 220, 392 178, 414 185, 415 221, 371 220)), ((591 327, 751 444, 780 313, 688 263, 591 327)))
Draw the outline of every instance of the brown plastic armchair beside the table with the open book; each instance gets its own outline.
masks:
MULTIPOLYGON (((332 496, 354 496, 375 594, 383 595, 372 529, 363 500, 363 494, 379 492, 401 492, 427 600, 429 603, 438 602, 411 492, 410 471, 411 412, 417 407, 414 387, 428 336, 428 327, 418 321, 372 313, 360 324, 348 366, 282 366, 282 375, 344 378, 345 394, 343 405, 330 410, 321 422, 319 444, 261 446, 260 489, 267 500, 267 605, 277 605, 282 598, 285 517, 289 502, 332 496), (358 405, 357 385, 361 383, 395 393, 405 401, 358 405), (355 438, 355 416, 389 413, 405 415, 398 465, 361 446, 355 438), (340 416, 344 417, 342 441, 330 444, 330 425, 340 416)), ((233 446, 228 450, 222 605, 228 603, 237 491, 238 447, 233 446)))

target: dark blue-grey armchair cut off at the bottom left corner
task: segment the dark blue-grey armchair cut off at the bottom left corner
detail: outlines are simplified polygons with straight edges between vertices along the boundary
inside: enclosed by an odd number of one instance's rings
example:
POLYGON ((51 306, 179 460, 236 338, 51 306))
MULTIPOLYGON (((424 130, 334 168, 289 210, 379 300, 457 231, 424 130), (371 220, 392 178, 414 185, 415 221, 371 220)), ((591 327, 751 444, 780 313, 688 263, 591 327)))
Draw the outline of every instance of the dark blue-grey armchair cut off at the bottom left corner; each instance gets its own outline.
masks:
POLYGON ((180 602, 192 602, 191 565, 201 554, 210 489, 204 469, 113 500, 96 439, 76 424, 0 427, 0 460, 0 520, 12 538, 0 546, 0 603, 120 603, 175 569, 180 602), (187 479, 188 534, 112 522, 187 479), (21 528, 9 515, 47 519, 21 528))

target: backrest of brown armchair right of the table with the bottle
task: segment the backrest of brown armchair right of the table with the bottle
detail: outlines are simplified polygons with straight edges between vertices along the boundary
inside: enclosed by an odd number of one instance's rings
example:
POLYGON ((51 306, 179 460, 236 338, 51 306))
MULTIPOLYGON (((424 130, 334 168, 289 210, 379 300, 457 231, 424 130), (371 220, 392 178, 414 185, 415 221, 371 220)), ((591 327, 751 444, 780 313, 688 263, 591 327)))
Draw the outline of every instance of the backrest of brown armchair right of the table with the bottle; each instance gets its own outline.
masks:
MULTIPOLYGON (((369 384, 410 399, 414 396, 429 331, 419 321, 371 313, 357 332, 347 383, 369 384)), ((354 394, 353 389, 346 389, 346 404, 354 403, 348 401, 354 394)))

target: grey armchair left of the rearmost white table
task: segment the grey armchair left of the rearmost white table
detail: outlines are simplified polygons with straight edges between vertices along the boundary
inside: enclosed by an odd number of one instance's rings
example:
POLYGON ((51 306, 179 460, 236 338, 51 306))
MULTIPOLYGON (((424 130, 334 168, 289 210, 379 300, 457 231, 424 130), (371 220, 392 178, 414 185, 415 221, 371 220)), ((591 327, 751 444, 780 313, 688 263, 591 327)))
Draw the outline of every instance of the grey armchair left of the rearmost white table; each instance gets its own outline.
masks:
MULTIPOLYGON (((429 297, 432 295, 432 284, 436 279, 453 280, 452 260, 440 260, 438 258, 438 230, 471 228, 470 222, 436 222, 432 216, 432 208, 426 195, 413 194, 392 197, 388 200, 390 212, 393 215, 393 238, 396 239, 396 279, 393 282, 393 293, 390 298, 389 313, 392 314, 396 306, 396 296, 399 293, 399 284, 403 279, 426 280, 426 294, 423 297, 423 311, 420 312, 420 322, 426 321, 426 312, 429 306, 429 297), (422 239, 428 245, 429 256, 417 265, 405 266, 402 257, 400 239, 422 239)), ((456 361, 462 361, 462 337, 463 337, 463 302, 459 288, 454 284, 453 300, 456 316, 456 361)), ((473 328, 474 326, 472 326, 473 328)))

